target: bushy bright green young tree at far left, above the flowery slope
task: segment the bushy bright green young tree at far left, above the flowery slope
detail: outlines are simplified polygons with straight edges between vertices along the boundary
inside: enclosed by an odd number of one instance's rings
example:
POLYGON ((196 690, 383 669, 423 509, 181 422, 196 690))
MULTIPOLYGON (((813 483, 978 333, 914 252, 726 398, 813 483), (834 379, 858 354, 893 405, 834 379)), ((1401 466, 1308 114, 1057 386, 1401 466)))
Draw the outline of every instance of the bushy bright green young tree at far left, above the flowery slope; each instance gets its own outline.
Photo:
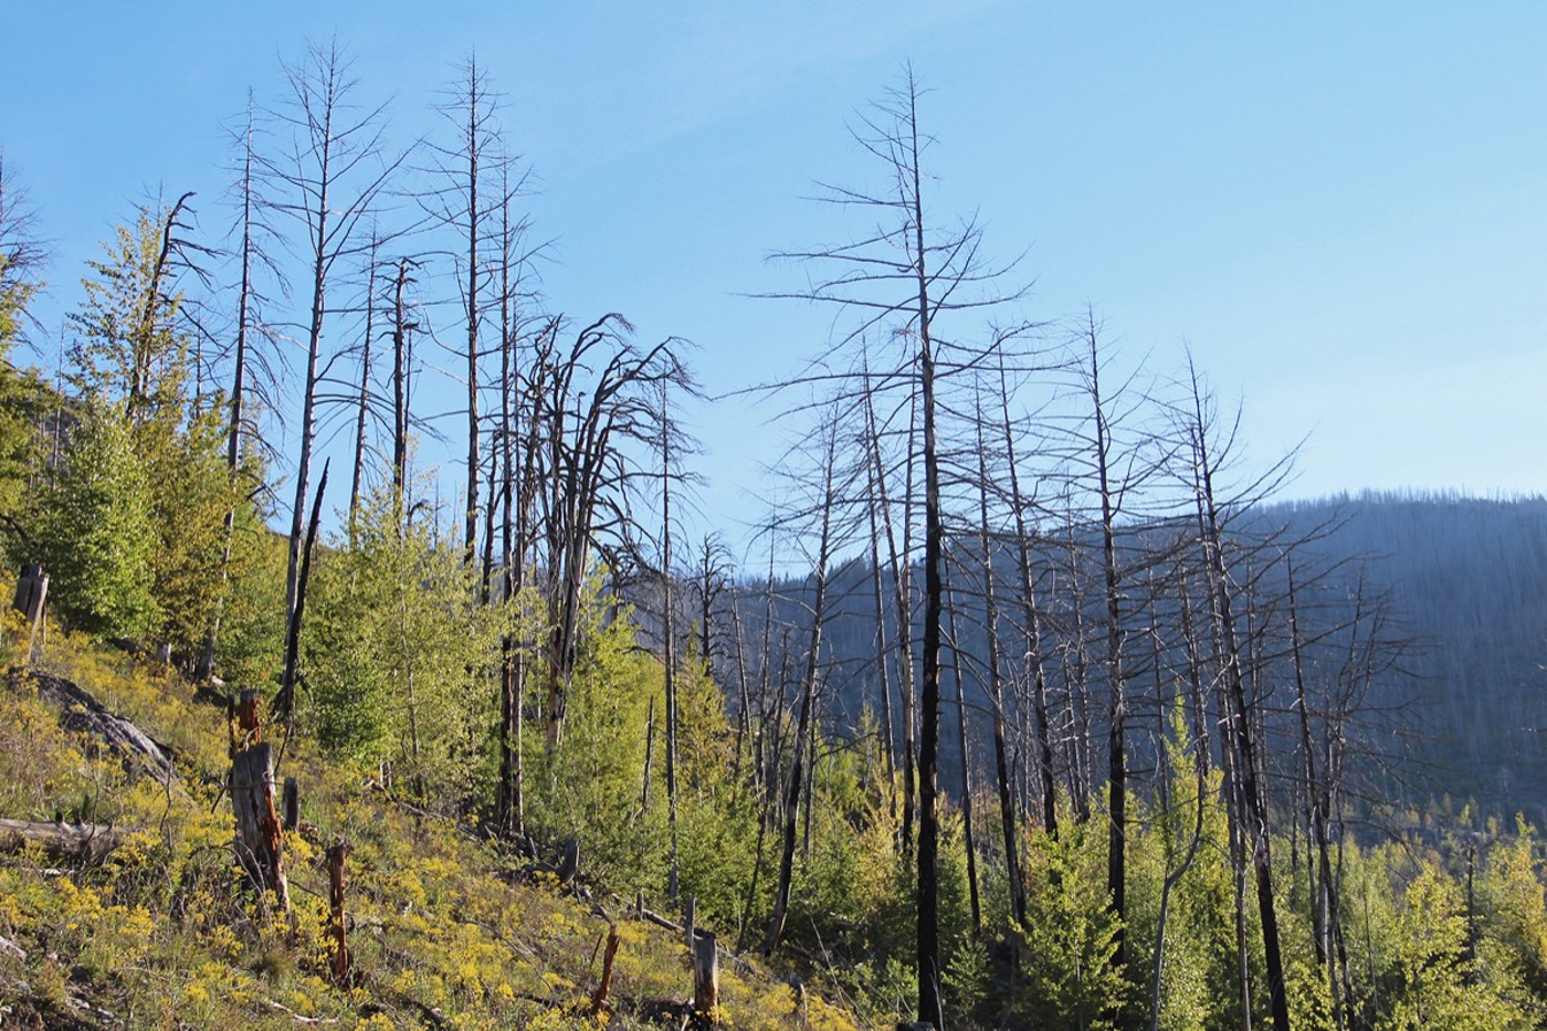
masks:
POLYGON ((156 537, 150 483, 128 429, 88 409, 39 508, 37 553, 53 608, 85 633, 147 633, 158 618, 156 537))

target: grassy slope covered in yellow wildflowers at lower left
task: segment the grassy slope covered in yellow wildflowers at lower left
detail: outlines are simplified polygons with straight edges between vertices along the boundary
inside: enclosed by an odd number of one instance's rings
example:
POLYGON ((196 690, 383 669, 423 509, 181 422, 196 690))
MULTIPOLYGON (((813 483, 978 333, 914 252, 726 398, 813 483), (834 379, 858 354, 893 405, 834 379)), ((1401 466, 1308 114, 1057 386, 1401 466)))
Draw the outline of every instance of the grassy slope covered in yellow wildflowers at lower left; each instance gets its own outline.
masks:
MULTIPOLYGON (((15 635, 8 633, 8 641, 15 635)), ((12 652, 8 656, 15 661, 12 652)), ((169 788, 60 729, 31 684, 0 686, 0 816, 113 824, 124 847, 91 867, 39 851, 0 855, 0 1026, 6 1028, 597 1028, 580 1012, 600 974, 606 920, 545 885, 450 820, 416 817, 359 776, 292 748, 302 833, 286 834, 292 912, 234 889, 223 797, 224 712, 175 676, 80 641, 39 666, 70 676, 176 752, 169 788), (347 906, 357 977, 328 978, 326 844, 350 844, 347 906), (111 1014, 108 1017, 107 1014, 111 1014)), ((622 910, 620 904, 610 904, 622 910)), ((617 912, 613 1026, 640 1026, 650 1000, 692 994, 679 937, 617 912)), ((792 989, 721 964, 730 1028, 801 1026, 792 989)), ((809 995, 806 1026, 855 1028, 809 995)))

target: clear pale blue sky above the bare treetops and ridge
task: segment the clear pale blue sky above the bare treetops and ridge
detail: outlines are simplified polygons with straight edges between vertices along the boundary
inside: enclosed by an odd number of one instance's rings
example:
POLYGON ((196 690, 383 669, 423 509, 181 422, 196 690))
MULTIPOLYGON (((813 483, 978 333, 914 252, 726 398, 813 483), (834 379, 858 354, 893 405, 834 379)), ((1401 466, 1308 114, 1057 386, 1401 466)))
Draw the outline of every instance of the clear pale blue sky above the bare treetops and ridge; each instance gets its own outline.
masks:
MULTIPOLYGON (((692 339, 710 392, 777 378, 826 322, 743 294, 842 235, 801 198, 865 181, 846 122, 911 60, 936 206, 1026 252, 1027 316, 1092 303, 1159 370, 1190 344, 1262 463, 1309 435, 1290 495, 1547 489, 1544 3, 442 8, 11 5, 0 149, 53 245, 45 322, 147 192, 198 190, 218 232, 223 125, 336 34, 402 141, 476 48, 541 181, 552 308, 692 339)), ((695 413, 727 523, 760 516, 763 418, 695 413)))

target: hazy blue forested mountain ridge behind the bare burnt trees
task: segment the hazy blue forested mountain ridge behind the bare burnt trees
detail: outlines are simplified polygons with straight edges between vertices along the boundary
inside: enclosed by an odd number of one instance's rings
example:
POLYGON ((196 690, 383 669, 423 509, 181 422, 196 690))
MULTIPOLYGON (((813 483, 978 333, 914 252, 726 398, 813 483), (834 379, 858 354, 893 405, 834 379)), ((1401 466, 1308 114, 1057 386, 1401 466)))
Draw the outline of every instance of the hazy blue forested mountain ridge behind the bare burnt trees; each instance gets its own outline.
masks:
MULTIPOLYGON (((1351 765, 1352 780, 1346 790, 1352 805, 1395 803, 1422 810, 1448 797, 1454 810, 1471 800, 1482 814, 1508 819, 1519 811, 1538 825, 1547 825, 1547 498, 1364 492, 1261 505, 1238 517, 1235 529, 1248 540, 1273 537, 1286 543, 1301 542, 1292 553, 1307 636, 1315 635, 1316 627, 1335 627, 1351 619, 1360 604, 1368 607, 1363 633, 1374 635, 1380 644, 1371 649, 1369 656, 1360 658, 1371 661, 1374 672, 1363 687, 1349 687, 1358 700, 1352 703, 1355 715, 1346 732, 1351 752, 1372 755, 1374 762, 1351 765), (1378 607, 1374 605, 1377 599, 1378 607)), ((1143 533, 1159 537, 1176 531, 1171 526, 1143 533)), ((1135 550, 1145 546, 1143 533, 1129 542, 1135 550)), ((970 553, 975 545, 962 542, 962 546, 970 553)), ((1046 563, 1057 562, 1052 554, 1057 542, 1043 542, 1043 546, 1047 550, 1043 556, 1046 574, 1046 563)), ((1265 644, 1259 646, 1259 675, 1253 689, 1261 692, 1267 712, 1270 774, 1276 774, 1273 780, 1281 802, 1292 803, 1290 785, 1299 762, 1299 737, 1295 729, 1298 717, 1286 629, 1286 573, 1279 565, 1265 571, 1252 568, 1252 562, 1269 563, 1276 554, 1279 550, 1273 545, 1255 557, 1241 559, 1242 568, 1236 574, 1242 581, 1252 581, 1253 590, 1269 599, 1262 602, 1264 611, 1273 610, 1262 616, 1264 622, 1273 621, 1275 627, 1267 632, 1265 644)), ((996 559, 996 565, 1007 562, 1007 557, 996 559)), ((1049 590, 1063 587, 1060 576, 1046 576, 1049 590)), ((1001 568, 996 579, 1004 585, 1001 590, 1009 588, 1013 582, 1009 565, 1001 568)), ((783 642, 786 656, 781 659, 775 655, 775 683, 801 667, 789 653, 798 653, 806 641, 811 588, 809 579, 804 584, 778 584, 775 625, 780 629, 772 638, 775 652, 783 642)), ((1142 604, 1137 599, 1142 590, 1135 582, 1134 598, 1129 601, 1134 608, 1142 604)), ((840 562, 829 571, 831 608, 823 630, 828 684, 823 718, 835 728, 860 726, 866 720, 866 711, 869 726, 874 728, 882 715, 880 676, 874 661, 877 636, 873 591, 871 568, 863 559, 840 562)), ((1098 601, 1095 594, 1086 598, 1088 619, 1100 618, 1098 613, 1091 613, 1092 602, 1098 601)), ((739 625, 747 655, 753 655, 760 646, 766 604, 761 584, 743 585, 739 625)), ((959 604, 964 610, 962 652, 973 656, 981 670, 985 652, 981 599, 964 593, 959 604)), ((890 581, 886 607, 890 619, 890 581)), ((1015 656, 1021 650, 1013 629, 1015 605, 1001 598, 999 608, 1004 644, 1001 653, 1015 656)), ((1067 602, 1050 598, 1047 619, 1055 629, 1049 632, 1049 690, 1054 698, 1060 690, 1067 690, 1067 663, 1052 652, 1067 649, 1067 636, 1058 641, 1057 624, 1067 624, 1071 611, 1067 602), (1060 605, 1064 605, 1061 611, 1060 605)), ((1145 653, 1148 646, 1143 644, 1145 635, 1140 630, 1146 619, 1156 619, 1170 624, 1174 636, 1174 602, 1162 602, 1159 613, 1129 611, 1129 618, 1135 627, 1125 644, 1125 655, 1132 652, 1125 663, 1132 661, 1135 675, 1135 687, 1131 689, 1135 694, 1135 709, 1131 720, 1140 738, 1135 742, 1132 762, 1142 771, 1151 765, 1157 740, 1154 735, 1162 724, 1157 706, 1165 703, 1157 703, 1151 694, 1162 689, 1153 683, 1157 678, 1146 669, 1154 663, 1145 653), (1142 687, 1137 686, 1139 681, 1142 687)), ((1241 618, 1247 619, 1244 615, 1241 618)), ((917 630, 917 622, 914 625, 917 630)), ((886 633, 888 641, 893 641, 890 625, 886 633)), ((916 632, 914 647, 917 641, 916 632)), ((1352 652, 1344 655, 1344 650, 1355 644, 1360 644, 1358 635, 1352 641, 1323 641, 1321 650, 1307 658, 1310 675, 1323 683, 1354 676, 1338 666, 1340 661, 1354 661, 1352 652)), ((1368 644, 1364 641, 1360 647, 1368 644)), ((726 646, 721 647, 726 650, 726 646)), ((1307 652, 1312 650, 1307 646, 1307 652)), ((756 678, 756 664, 747 661, 756 678)), ((948 794, 959 796, 954 684, 950 683, 950 656, 942 656, 942 661, 947 667, 942 683, 942 757, 948 759, 942 759, 941 779, 948 794)), ((1168 663, 1170 670, 1174 670, 1180 659, 1173 647, 1159 661, 1168 663)), ((729 656, 722 655, 718 667, 721 680, 732 683, 727 680, 729 656)), ((973 766, 981 771, 973 776, 982 785, 989 782, 985 763, 990 760, 987 697, 979 684, 972 683, 972 672, 967 678, 973 766)), ((896 692, 894 666, 890 683, 896 692)), ((792 684, 786 684, 786 692, 791 690, 792 684)), ((1091 706, 1094 715, 1086 731, 1095 737, 1103 726, 1100 692, 1105 687, 1092 683, 1091 690, 1097 695, 1097 704, 1091 706)), ((1007 704, 1015 707, 1013 692, 1009 690, 1007 704)), ((899 707, 893 706, 894 721, 900 720, 899 707)), ((1009 718, 1015 726, 1019 715, 1010 712, 1009 718)), ((1069 724, 1064 729, 1069 731, 1069 724)), ((900 740, 900 729, 897 737, 900 740)))

